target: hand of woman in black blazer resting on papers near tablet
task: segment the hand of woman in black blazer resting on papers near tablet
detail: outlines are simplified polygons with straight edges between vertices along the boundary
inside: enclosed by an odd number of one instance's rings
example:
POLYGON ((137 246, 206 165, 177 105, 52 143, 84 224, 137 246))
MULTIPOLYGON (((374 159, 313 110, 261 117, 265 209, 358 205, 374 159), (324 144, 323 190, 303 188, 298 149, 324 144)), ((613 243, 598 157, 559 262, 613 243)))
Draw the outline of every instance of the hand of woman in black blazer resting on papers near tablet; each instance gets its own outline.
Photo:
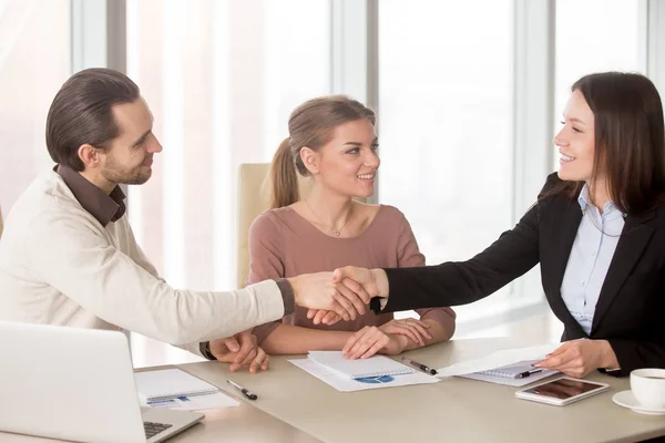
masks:
POLYGON ((617 368, 616 354, 607 340, 572 340, 534 364, 582 379, 598 368, 617 368))

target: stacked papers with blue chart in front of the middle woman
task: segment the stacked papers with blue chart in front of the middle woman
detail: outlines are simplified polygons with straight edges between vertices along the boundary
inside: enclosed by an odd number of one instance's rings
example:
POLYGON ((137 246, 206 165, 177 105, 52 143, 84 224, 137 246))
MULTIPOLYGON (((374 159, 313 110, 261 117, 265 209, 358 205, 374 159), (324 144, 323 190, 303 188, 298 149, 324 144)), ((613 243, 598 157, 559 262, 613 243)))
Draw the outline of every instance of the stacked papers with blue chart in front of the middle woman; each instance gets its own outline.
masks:
POLYGON ((347 360, 339 351, 310 351, 308 357, 289 362, 342 392, 439 381, 385 356, 347 360))

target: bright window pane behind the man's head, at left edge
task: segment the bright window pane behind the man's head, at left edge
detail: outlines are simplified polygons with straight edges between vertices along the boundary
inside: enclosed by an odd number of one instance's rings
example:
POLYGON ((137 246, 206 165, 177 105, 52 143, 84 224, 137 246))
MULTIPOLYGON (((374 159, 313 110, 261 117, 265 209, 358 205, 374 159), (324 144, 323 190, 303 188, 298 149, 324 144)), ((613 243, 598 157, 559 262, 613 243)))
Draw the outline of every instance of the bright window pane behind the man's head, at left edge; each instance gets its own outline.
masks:
POLYGON ((0 206, 53 164, 44 128, 70 75, 70 1, 0 1, 0 206))

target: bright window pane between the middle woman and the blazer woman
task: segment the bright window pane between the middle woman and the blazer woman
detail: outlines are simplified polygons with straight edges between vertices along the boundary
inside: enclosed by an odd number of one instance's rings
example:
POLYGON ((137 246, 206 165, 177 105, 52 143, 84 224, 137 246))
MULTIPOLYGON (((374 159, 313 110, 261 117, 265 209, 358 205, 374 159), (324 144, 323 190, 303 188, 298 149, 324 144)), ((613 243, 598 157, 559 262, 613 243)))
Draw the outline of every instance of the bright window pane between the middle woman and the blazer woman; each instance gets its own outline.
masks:
POLYGON ((511 227, 512 29, 511 0, 379 3, 379 199, 406 214, 428 264, 511 227))

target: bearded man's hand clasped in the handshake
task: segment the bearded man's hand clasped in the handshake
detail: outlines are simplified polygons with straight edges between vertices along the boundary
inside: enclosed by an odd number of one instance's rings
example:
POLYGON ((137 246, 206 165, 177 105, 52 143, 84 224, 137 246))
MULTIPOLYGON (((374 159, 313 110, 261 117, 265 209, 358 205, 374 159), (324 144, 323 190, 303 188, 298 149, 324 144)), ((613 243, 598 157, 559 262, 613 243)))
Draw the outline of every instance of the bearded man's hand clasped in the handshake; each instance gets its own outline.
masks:
POLYGON ((332 272, 306 274, 288 279, 294 288, 296 305, 337 313, 345 320, 355 320, 365 313, 369 303, 367 293, 354 292, 332 282, 332 272))

